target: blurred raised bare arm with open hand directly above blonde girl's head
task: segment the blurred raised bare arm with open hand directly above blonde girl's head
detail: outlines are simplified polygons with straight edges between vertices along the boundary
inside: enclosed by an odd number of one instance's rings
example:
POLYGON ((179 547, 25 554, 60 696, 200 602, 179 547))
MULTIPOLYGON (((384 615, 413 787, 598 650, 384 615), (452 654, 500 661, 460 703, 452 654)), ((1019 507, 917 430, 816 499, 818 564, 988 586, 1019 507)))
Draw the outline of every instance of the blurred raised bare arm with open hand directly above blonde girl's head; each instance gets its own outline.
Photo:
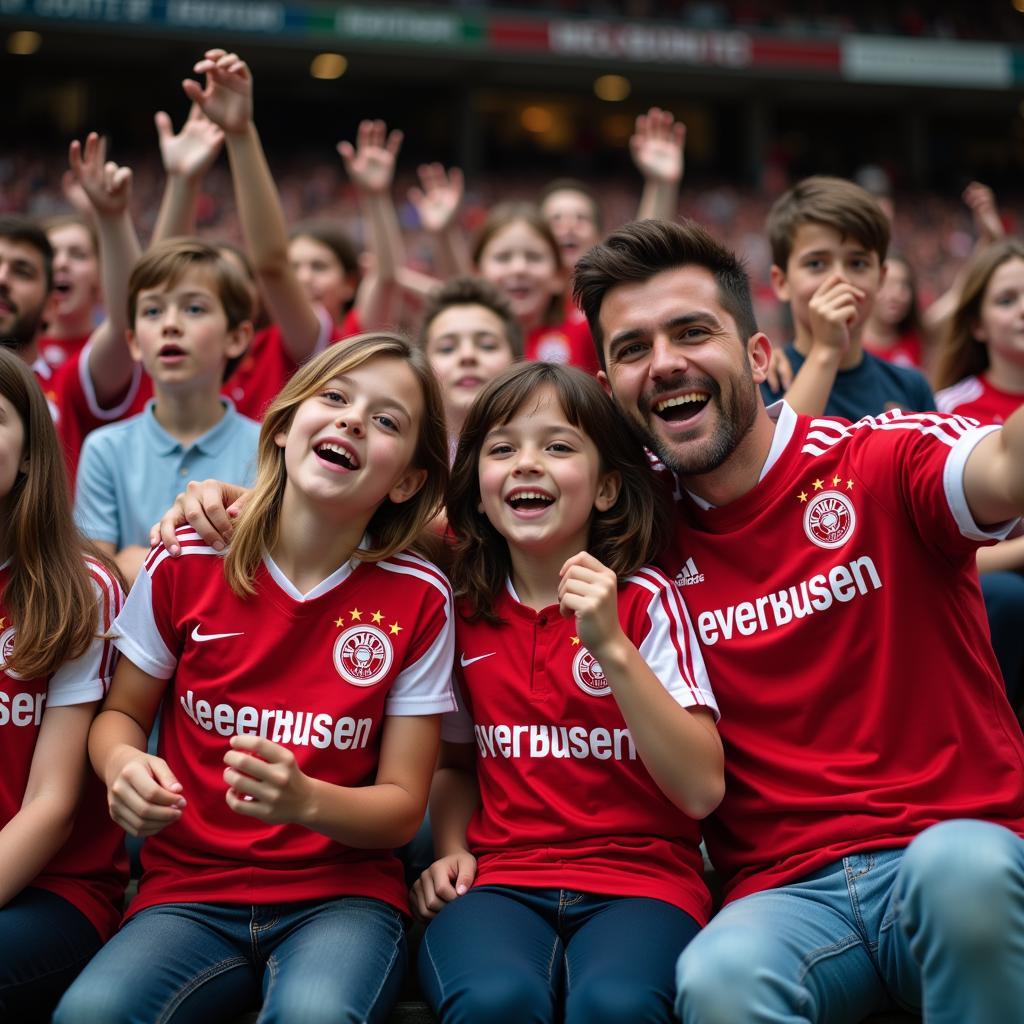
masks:
POLYGON ((401 139, 401 132, 389 132, 383 121, 360 121, 355 146, 338 143, 366 218, 373 261, 355 293, 355 312, 364 331, 393 326, 397 319, 401 298, 397 274, 406 257, 391 184, 401 139))

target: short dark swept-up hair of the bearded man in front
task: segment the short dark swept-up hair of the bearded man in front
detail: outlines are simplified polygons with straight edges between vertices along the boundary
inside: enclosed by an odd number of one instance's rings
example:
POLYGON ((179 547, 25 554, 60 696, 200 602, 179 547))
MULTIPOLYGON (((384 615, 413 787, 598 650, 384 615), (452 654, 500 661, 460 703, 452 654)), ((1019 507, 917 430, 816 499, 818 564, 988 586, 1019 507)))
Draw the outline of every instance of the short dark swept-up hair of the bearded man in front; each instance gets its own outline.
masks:
POLYGON ((719 302, 736 322, 740 341, 757 334, 751 283, 737 256, 695 220, 636 220, 581 256, 572 275, 572 296, 587 315, 602 369, 607 370, 600 323, 605 295, 618 285, 684 266, 702 267, 715 279, 719 302))

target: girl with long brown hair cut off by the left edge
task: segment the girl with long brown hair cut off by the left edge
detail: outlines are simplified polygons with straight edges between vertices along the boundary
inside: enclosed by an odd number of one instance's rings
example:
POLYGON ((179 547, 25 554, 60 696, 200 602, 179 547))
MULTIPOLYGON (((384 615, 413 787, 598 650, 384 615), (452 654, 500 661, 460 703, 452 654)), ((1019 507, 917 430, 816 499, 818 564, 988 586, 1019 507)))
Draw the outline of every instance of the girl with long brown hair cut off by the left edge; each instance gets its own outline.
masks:
POLYGON ((0 348, 4 1021, 48 1020, 121 915, 123 836, 85 753, 114 666, 108 634, 121 588, 85 550, 46 399, 22 360, 0 348))

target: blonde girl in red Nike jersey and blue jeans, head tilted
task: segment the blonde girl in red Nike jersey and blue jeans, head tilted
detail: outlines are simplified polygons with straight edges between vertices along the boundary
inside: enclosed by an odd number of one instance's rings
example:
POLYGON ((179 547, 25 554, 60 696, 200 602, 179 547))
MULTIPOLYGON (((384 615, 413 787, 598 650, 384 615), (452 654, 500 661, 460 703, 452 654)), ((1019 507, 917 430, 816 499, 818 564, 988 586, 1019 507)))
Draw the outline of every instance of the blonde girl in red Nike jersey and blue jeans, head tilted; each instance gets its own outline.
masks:
POLYGON ((407 910, 389 851, 454 708, 449 587, 402 549, 446 476, 426 358, 366 335, 271 404, 223 565, 187 527, 180 557, 151 553, 90 736, 143 876, 60 1024, 220 1020, 260 995, 261 1022, 387 1015, 407 910))

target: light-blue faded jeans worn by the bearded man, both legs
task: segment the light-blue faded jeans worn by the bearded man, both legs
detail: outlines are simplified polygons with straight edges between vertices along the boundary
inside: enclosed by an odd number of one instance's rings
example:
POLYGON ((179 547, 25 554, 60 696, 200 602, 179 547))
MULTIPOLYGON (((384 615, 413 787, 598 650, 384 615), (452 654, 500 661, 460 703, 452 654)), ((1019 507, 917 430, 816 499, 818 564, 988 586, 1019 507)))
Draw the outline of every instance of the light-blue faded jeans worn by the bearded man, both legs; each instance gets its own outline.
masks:
MULTIPOLYGON (((970 757, 965 752, 965 757, 970 757)), ((946 821, 730 903, 679 959, 685 1024, 928 1024, 1024 1013, 1024 840, 946 821)))

